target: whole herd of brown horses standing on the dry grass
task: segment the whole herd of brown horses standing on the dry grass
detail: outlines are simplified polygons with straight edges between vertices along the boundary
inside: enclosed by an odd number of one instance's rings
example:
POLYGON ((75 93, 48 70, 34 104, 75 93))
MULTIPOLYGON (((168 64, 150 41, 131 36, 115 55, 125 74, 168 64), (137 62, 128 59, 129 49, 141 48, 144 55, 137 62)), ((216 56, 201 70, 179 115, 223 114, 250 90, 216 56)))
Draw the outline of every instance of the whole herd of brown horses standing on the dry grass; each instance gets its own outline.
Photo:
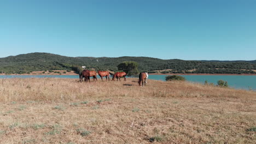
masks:
MULTIPOLYGON (((101 77, 101 81, 103 81, 103 77, 106 77, 106 81, 108 80, 109 81, 109 75, 112 75, 113 78, 112 80, 115 81, 115 78, 117 78, 117 81, 119 79, 120 80, 120 77, 124 77, 124 81, 126 81, 126 78, 125 76, 127 75, 125 72, 117 72, 117 73, 109 73, 108 71, 101 71, 101 70, 98 70, 98 75, 101 77)), ((95 70, 83 70, 82 73, 79 74, 79 80, 80 82, 83 81, 83 78, 84 78, 84 81, 85 82, 90 82, 90 77, 93 77, 94 81, 96 80, 97 81, 97 73, 95 70)), ((147 83, 147 79, 148 79, 148 73, 139 73, 139 86, 146 86, 146 83, 147 83)))

